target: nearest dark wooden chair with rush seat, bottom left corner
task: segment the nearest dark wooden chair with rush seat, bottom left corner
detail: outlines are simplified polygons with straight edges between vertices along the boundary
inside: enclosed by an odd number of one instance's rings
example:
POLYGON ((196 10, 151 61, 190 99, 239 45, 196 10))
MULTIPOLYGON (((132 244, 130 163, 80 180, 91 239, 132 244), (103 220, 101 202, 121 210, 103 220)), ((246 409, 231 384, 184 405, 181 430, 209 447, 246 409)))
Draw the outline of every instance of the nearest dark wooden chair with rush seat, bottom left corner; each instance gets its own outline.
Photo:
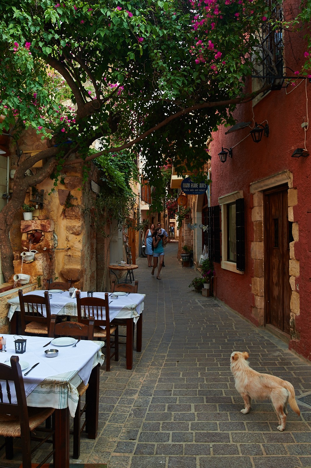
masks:
POLYGON ((13 437, 19 437, 21 438, 22 466, 23 468, 31 468, 31 454, 44 442, 52 442, 49 440, 49 437, 52 435, 53 450, 40 464, 36 465, 37 468, 40 468, 52 455, 54 459, 55 431, 52 429, 43 438, 37 436, 31 437, 30 432, 34 430, 46 432, 45 428, 40 429, 38 426, 53 414, 54 408, 27 407, 25 387, 18 356, 12 356, 10 362, 11 366, 0 364, 0 380, 6 380, 6 387, 3 386, 4 388, 1 388, 0 384, 0 435, 6 438, 6 457, 9 460, 13 458, 13 437), (16 404, 11 402, 9 381, 14 383, 16 404), (5 394, 7 394, 8 403, 3 402, 3 395, 5 394), (30 446, 31 440, 39 442, 33 449, 30 446))

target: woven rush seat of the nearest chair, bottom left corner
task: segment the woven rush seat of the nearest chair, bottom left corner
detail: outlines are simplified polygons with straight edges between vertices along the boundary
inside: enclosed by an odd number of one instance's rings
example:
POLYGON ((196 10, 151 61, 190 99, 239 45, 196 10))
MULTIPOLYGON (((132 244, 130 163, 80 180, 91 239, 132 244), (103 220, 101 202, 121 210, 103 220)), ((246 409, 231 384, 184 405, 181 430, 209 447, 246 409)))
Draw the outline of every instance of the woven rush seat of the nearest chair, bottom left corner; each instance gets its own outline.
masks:
MULTIPOLYGON (((54 412, 54 408, 28 408, 29 431, 34 431, 54 412)), ((20 418, 9 414, 0 415, 0 434, 4 437, 21 437, 20 418)))

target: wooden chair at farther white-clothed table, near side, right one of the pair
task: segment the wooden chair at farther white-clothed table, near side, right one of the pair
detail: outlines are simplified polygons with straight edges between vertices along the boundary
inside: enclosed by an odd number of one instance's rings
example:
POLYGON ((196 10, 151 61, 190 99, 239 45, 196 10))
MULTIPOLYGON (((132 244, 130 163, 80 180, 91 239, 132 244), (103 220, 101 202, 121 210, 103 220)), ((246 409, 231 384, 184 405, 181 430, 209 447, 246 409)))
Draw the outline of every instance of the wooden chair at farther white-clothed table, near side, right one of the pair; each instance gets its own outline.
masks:
POLYGON ((78 322, 88 323, 90 317, 95 318, 94 338, 102 338, 106 340, 106 372, 110 371, 110 360, 114 356, 115 361, 119 361, 119 328, 118 325, 111 326, 109 319, 109 300, 108 293, 105 294, 105 299, 96 297, 80 297, 80 292, 77 291, 77 309, 78 322), (100 328, 105 326, 106 329, 100 328), (111 333, 114 332, 114 341, 111 341, 111 333), (111 348, 114 352, 111 354, 111 348))

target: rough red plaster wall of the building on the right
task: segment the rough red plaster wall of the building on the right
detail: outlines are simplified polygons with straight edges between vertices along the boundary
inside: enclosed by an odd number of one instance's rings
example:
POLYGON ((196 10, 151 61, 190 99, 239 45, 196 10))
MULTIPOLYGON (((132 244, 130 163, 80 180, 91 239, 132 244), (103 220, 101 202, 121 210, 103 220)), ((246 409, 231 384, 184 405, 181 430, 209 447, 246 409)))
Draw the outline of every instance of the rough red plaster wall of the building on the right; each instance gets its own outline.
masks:
MULTIPOLYGON (((296 57, 302 60, 305 51, 304 42, 296 42, 296 44, 292 42, 292 46, 296 57)), ((297 64, 292 66, 295 70, 298 69, 297 64)), ((249 127, 228 135, 225 135, 227 129, 222 127, 213 135, 213 142, 210 146, 212 155, 211 205, 218 205, 220 196, 235 190, 243 190, 246 269, 244 275, 240 275, 223 270, 220 264, 215 264, 217 296, 257 324, 258 321, 252 315, 254 295, 251 283, 256 274, 254 274, 254 260, 250 255, 251 243, 254 241, 253 195, 250 193, 250 183, 283 170, 289 170, 292 173, 293 188, 297 188, 298 199, 293 212, 294 221, 297 221, 299 226, 299 241, 295 242, 295 258, 299 260, 300 266, 300 276, 296 278, 296 289, 300 296, 300 315, 296 317, 296 330, 300 333, 300 340, 291 340, 290 348, 311 359, 311 251, 308 248, 307 226, 307 213, 311 212, 311 155, 306 158, 291 157, 296 148, 304 147, 305 132, 301 124, 307 120, 306 93, 310 102, 311 84, 309 80, 296 80, 295 84, 295 87, 289 85, 288 88, 280 91, 270 91, 253 108, 254 121, 258 124, 263 122, 265 125, 264 121, 268 120, 269 138, 262 136, 260 143, 254 143, 251 136, 247 136, 250 132, 249 127), (240 142, 245 137, 247 138, 240 142), (225 163, 222 163, 218 156, 222 146, 226 148, 234 146, 233 158, 228 157, 225 163)), ((311 115, 310 105, 309 115, 311 115)), ((237 122, 252 120, 252 102, 239 105, 234 116, 237 122)), ((311 153, 310 132, 311 129, 306 132, 306 148, 311 153)))

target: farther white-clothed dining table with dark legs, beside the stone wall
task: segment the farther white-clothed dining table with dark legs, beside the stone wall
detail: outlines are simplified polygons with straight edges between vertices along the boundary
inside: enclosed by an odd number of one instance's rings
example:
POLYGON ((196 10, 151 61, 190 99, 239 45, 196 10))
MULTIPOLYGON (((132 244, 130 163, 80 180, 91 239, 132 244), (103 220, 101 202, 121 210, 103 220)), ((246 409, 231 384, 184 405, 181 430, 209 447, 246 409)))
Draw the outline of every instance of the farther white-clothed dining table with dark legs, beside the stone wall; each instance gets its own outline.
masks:
MULTIPOLYGON (((43 290, 35 290, 27 292, 28 294, 37 294, 41 297, 44 296, 43 290)), ((81 292, 81 298, 87 297, 87 292, 81 292)), ((93 298, 105 299, 105 292, 93 292, 93 298)), ((137 323, 136 331, 136 350, 141 352, 142 346, 142 311, 144 309, 145 294, 129 293, 124 296, 119 296, 118 299, 111 298, 109 293, 109 317, 110 322, 114 318, 126 319, 127 321, 127 340, 126 340, 126 365, 127 369, 133 368, 133 326, 137 323)), ((51 314, 77 316, 77 299, 70 297, 68 291, 53 292, 49 291, 49 302, 51 314)), ((18 314, 15 311, 20 310, 19 298, 14 297, 8 300, 10 309, 7 314, 11 321, 11 333, 18 334, 18 314)), ((43 315, 45 308, 43 308, 43 315)))

